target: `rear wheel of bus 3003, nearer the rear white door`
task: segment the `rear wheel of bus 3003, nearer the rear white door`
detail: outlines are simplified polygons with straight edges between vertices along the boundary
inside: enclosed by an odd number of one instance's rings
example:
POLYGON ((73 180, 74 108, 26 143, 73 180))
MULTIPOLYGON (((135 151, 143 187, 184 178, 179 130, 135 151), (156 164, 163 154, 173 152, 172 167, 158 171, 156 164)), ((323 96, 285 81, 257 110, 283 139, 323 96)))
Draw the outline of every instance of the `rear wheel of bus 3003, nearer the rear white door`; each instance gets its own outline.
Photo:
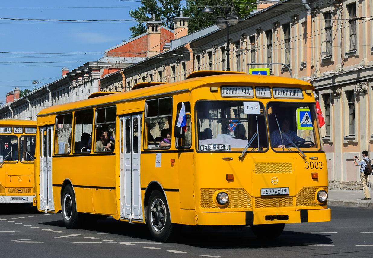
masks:
POLYGON ((68 229, 76 229, 79 226, 79 213, 76 211, 75 194, 71 185, 67 185, 63 190, 62 200, 62 217, 65 226, 68 229))

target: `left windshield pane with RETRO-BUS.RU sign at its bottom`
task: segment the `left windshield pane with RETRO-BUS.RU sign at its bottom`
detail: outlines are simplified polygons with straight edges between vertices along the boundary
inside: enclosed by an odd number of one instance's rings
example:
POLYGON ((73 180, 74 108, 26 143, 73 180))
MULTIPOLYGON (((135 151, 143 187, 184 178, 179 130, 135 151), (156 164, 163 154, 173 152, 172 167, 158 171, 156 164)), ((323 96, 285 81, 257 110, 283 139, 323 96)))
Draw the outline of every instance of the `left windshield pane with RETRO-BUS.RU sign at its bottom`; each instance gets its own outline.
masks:
POLYGON ((257 101, 200 101, 196 104, 198 150, 248 151, 268 148, 264 106, 257 101), (258 135, 254 134, 258 131, 258 135), (253 138, 253 139, 252 139, 253 138))

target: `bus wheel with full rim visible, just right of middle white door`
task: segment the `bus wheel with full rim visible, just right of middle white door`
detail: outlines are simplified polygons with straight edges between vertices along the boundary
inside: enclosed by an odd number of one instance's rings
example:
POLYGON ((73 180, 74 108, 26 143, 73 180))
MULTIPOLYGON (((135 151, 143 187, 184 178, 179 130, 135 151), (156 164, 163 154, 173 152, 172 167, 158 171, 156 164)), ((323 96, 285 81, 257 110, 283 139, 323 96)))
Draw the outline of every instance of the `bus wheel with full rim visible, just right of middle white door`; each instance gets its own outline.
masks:
POLYGON ((153 240, 167 242, 172 239, 175 227, 171 223, 166 198, 160 191, 153 191, 150 195, 147 218, 148 228, 153 240))

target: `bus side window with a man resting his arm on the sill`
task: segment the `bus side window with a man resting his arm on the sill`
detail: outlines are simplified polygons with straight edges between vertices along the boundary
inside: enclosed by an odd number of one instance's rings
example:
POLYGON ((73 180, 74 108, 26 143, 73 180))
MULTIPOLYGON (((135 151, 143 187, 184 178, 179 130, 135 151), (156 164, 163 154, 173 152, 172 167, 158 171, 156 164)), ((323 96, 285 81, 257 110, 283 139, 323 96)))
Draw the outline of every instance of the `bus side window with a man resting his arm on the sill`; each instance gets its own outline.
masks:
POLYGON ((94 152, 113 152, 115 147, 116 107, 96 109, 95 150, 94 152))

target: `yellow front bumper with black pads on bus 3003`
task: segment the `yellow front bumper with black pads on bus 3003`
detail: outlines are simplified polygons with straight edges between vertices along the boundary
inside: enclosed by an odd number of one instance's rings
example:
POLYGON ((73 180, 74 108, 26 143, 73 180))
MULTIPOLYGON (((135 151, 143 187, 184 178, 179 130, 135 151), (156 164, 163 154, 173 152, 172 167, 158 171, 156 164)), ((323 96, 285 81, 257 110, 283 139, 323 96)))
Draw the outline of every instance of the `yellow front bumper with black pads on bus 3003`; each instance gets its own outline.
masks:
POLYGON ((206 226, 252 225, 330 221, 331 210, 195 212, 195 224, 206 226))

